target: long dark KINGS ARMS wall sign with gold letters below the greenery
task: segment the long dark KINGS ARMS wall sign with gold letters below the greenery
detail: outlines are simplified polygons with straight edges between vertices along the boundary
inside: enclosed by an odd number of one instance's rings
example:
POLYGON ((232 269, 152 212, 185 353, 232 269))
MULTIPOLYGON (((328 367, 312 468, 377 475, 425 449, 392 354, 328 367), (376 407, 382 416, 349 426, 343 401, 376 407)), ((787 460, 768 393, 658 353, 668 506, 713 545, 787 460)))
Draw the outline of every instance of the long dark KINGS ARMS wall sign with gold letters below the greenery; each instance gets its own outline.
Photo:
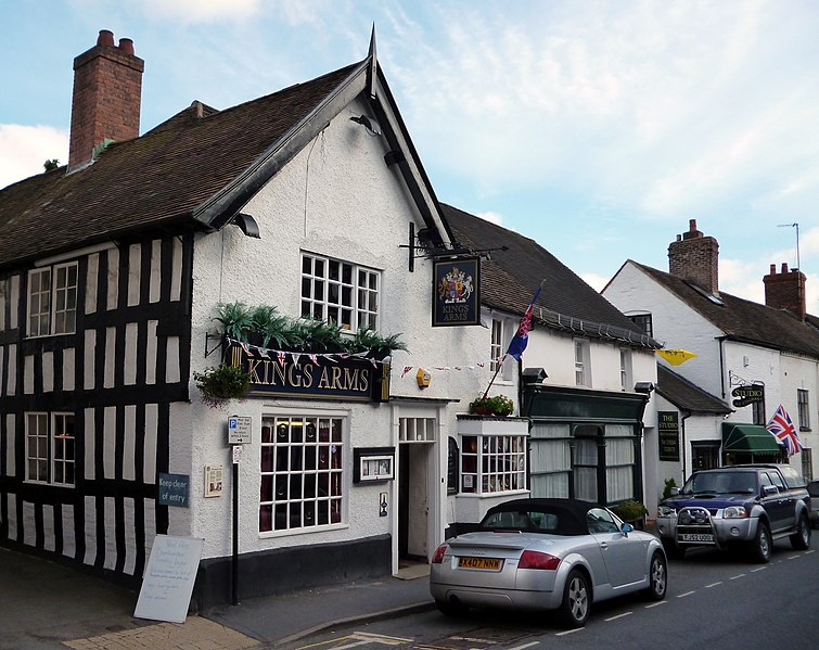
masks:
POLYGON ((251 396, 389 400, 389 364, 345 354, 303 354, 230 343, 226 362, 251 375, 251 396))

